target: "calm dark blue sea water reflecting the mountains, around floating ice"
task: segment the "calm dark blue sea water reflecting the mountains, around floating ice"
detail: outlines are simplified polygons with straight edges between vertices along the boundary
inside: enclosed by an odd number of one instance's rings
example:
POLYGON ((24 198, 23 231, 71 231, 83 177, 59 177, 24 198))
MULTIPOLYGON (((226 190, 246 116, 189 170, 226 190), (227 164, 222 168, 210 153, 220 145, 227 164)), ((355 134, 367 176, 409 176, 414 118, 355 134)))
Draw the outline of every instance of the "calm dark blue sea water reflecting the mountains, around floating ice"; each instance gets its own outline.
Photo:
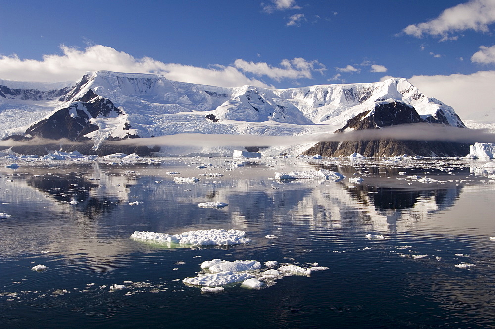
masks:
POLYGON ((472 173, 483 162, 162 161, 1 164, 0 212, 11 215, 0 221, 1 328, 495 327, 495 184, 472 173), (273 180, 319 168, 347 178, 273 180), (229 206, 198 207, 207 201, 229 206), (231 228, 252 242, 171 249, 130 238, 231 228), (201 294, 182 283, 215 258, 329 269, 259 290, 201 294), (464 263, 474 266, 455 267, 464 263), (48 269, 32 271, 38 264, 48 269), (110 292, 124 281, 134 283, 110 292))

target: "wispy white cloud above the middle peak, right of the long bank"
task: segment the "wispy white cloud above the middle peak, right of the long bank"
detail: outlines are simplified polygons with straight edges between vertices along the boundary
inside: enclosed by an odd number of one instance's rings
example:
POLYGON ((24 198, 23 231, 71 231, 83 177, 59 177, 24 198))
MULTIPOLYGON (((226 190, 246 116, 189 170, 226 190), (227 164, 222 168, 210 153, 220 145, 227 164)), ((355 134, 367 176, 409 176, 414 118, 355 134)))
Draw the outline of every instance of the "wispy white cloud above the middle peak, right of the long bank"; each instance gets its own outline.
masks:
POLYGON ((273 67, 264 62, 247 62, 243 59, 237 59, 234 62, 236 69, 252 73, 256 76, 267 76, 275 81, 282 79, 311 79, 313 72, 323 72, 326 70, 325 65, 317 60, 307 61, 304 58, 284 59, 281 67, 273 67))

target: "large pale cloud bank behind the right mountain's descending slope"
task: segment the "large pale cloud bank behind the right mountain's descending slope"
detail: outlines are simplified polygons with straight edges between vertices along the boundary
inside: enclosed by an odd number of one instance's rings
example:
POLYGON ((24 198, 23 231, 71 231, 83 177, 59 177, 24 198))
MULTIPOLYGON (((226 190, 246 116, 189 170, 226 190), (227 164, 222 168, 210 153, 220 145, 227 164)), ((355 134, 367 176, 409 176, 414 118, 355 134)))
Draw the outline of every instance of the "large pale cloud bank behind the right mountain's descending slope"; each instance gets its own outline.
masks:
POLYGON ((409 81, 426 96, 452 106, 461 119, 481 120, 494 109, 495 71, 479 71, 469 75, 420 75, 413 76, 409 81))

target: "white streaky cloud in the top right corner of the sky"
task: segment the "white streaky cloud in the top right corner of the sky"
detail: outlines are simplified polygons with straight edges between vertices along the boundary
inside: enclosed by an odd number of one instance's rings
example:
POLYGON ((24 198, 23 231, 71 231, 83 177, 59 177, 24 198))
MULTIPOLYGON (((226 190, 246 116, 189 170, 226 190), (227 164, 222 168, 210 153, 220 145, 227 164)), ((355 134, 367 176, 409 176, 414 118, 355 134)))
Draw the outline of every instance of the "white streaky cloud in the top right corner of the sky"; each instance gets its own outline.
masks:
POLYGON ((423 35, 441 37, 441 41, 456 40, 453 32, 474 30, 489 32, 488 25, 495 22, 494 0, 471 0, 444 10, 440 16, 428 22, 407 26, 403 32, 421 38, 423 35))

